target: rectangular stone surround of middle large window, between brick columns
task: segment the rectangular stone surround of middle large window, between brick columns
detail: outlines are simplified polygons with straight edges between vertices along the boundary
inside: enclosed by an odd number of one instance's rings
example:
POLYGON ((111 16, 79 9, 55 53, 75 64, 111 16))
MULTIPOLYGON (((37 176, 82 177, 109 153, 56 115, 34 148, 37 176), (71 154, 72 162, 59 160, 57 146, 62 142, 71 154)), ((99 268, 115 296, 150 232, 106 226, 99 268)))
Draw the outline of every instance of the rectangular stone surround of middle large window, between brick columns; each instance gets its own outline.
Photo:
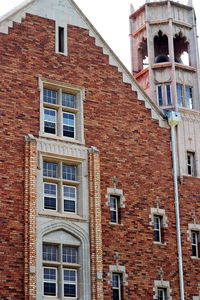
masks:
POLYGON ((37 210, 39 214, 69 217, 74 219, 88 219, 88 167, 87 167, 87 149, 80 146, 72 146, 62 142, 40 140, 38 144, 38 170, 37 170, 37 210), (78 155, 78 157, 77 157, 78 155), (74 163, 78 167, 78 196, 77 214, 62 212, 62 211, 48 211, 43 209, 43 159, 47 158, 50 161, 62 161, 74 163), (41 201, 42 200, 42 201, 41 201))

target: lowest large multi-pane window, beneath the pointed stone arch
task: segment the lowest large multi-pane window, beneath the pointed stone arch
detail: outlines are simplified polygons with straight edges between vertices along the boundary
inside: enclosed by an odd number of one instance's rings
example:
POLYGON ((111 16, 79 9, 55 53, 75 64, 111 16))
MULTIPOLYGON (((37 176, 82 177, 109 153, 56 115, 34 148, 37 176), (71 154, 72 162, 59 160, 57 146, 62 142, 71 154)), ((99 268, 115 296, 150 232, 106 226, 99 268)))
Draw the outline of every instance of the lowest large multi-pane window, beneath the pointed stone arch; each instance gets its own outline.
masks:
POLYGON ((77 298, 78 248, 43 243, 43 294, 77 298))

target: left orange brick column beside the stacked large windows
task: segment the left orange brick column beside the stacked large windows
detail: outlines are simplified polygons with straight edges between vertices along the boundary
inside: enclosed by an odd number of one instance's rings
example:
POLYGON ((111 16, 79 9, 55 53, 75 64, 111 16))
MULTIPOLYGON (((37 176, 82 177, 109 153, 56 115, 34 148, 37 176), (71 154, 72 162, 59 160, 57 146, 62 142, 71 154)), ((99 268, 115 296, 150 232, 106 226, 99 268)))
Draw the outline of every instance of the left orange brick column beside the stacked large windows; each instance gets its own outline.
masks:
POLYGON ((36 171, 37 141, 32 135, 25 138, 25 299, 36 299, 36 171))

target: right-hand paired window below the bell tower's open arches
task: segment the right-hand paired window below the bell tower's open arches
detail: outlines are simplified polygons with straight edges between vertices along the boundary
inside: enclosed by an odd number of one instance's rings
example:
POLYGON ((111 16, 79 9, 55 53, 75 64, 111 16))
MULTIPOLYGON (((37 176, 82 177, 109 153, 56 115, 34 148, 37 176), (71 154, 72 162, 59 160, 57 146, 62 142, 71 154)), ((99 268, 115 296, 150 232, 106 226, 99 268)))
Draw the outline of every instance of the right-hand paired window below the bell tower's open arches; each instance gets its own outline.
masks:
POLYGON ((192 87, 189 85, 176 84, 177 100, 179 107, 193 109, 192 87))

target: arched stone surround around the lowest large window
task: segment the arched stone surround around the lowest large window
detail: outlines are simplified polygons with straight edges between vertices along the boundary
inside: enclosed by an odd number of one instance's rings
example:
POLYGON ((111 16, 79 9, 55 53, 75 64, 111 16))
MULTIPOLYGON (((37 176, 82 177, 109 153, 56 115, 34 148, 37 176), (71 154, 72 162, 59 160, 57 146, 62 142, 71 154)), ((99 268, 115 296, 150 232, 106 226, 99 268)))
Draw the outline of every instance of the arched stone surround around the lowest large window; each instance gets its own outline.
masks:
MULTIPOLYGON (((37 299, 58 299, 56 297, 43 296, 43 259, 42 259, 42 246, 45 241, 44 236, 51 232, 59 230, 66 231, 72 236, 80 240, 79 250, 81 253, 80 272, 82 282, 82 296, 85 300, 90 300, 90 259, 89 259, 89 236, 83 228, 73 222, 64 222, 58 220, 51 220, 45 225, 41 225, 37 232, 37 299)), ((50 240, 48 240, 50 242, 50 240)), ((54 241, 55 242, 55 241, 54 241)))

